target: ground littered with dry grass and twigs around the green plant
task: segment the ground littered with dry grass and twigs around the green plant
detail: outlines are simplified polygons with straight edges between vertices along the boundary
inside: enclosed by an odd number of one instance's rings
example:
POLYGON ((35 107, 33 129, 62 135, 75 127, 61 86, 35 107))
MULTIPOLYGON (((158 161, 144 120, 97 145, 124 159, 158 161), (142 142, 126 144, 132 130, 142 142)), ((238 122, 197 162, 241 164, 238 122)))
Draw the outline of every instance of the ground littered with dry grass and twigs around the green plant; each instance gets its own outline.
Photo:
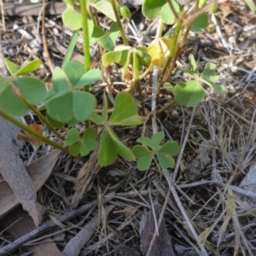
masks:
MULTIPOLYGON (((50 87, 51 71, 38 21, 41 3, 38 8, 25 6, 19 10, 11 2, 3 3, 4 57, 19 65, 41 59, 43 65, 35 75, 50 87)), ((61 22, 61 6, 57 14, 47 10, 45 16, 53 66, 61 66, 72 35, 61 22)), ((150 41, 155 30, 139 9, 132 9, 131 16, 131 27, 136 26, 138 33, 127 27, 134 44, 150 41)), ((174 170, 160 170, 153 164, 148 172, 139 172, 134 162, 121 158, 100 168, 95 154, 85 165, 62 154, 38 191, 41 226, 36 229, 26 212, 15 208, 0 220, 0 252, 14 244, 9 255, 64 255, 63 251, 66 255, 255 255, 256 32, 251 29, 255 20, 256 15, 243 1, 230 1, 210 15, 207 31, 189 36, 177 67, 188 67, 189 53, 195 55, 200 68, 215 63, 228 94, 217 96, 209 90, 197 107, 174 106, 159 116, 159 130, 165 131, 166 139, 180 144, 174 170), (28 236, 26 242, 21 241, 24 236, 28 236)), ((103 17, 102 26, 109 26, 103 17)), ((73 60, 83 61, 81 42, 79 37, 73 60)), ((91 50, 97 67, 96 49, 91 50)), ((111 79, 121 84, 117 67, 113 67, 111 79)), ((182 79, 177 68, 170 82, 182 79)), ((96 86, 99 99, 105 86, 96 86)), ((160 104, 170 97, 163 90, 160 104)), ((150 104, 148 95, 149 109, 150 104)), ((33 115, 25 119, 28 124, 38 122, 33 115)), ((152 125, 148 123, 147 128, 151 136, 152 125)), ((119 130, 120 139, 128 145, 140 134, 140 128, 119 130)), ((29 165, 51 150, 26 143, 20 148, 20 157, 29 165)))

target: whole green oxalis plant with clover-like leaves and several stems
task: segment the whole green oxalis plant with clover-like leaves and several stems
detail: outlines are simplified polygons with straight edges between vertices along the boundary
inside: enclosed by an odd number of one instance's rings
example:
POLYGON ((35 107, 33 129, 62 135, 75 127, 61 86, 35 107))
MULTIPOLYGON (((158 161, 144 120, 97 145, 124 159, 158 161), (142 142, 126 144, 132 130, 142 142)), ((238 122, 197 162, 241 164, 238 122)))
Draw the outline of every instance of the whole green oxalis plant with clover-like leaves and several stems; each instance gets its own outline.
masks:
POLYGON ((204 99, 207 87, 221 95, 226 93, 225 87, 218 84, 216 66, 207 63, 200 72, 193 55, 189 55, 189 67, 182 69, 186 80, 177 84, 168 82, 189 32, 198 33, 206 29, 207 11, 216 9, 216 4, 220 1, 209 4, 207 1, 186 1, 187 4, 182 5, 181 1, 175 0, 145 0, 143 15, 148 19, 158 19, 159 28, 149 45, 140 46, 131 46, 125 35, 124 21, 129 20, 131 12, 125 6, 120 6, 118 1, 67 0, 66 3, 67 9, 63 12, 62 20, 73 30, 73 37, 62 67, 55 67, 52 74, 52 89, 47 90, 43 81, 30 75, 38 69, 41 61, 31 61, 19 67, 4 60, 10 76, 0 77, 0 115, 33 137, 73 156, 85 156, 99 147, 100 166, 111 165, 119 155, 125 160, 137 160, 140 171, 147 170, 152 160, 157 160, 162 168, 174 167, 173 157, 179 151, 178 143, 161 143, 164 132, 160 131, 151 138, 140 137, 137 145, 128 148, 125 143, 120 142, 114 127, 146 125, 152 114, 160 113, 175 103, 194 107, 204 99), (99 13, 112 20, 108 31, 100 25, 99 13), (165 25, 172 26, 172 32, 164 34, 165 25), (70 61, 80 29, 84 38, 84 64, 70 61), (123 42, 117 45, 119 35, 123 42), (102 55, 101 70, 90 69, 92 44, 99 45, 102 55), (113 63, 123 67, 122 79, 125 79, 128 70, 132 72, 131 87, 129 92, 119 92, 115 97, 111 113, 108 111, 107 96, 103 95, 102 113, 99 113, 96 111, 97 100, 90 92, 90 86, 102 79, 102 73, 113 63), (140 82, 147 78, 148 73, 153 72, 153 67, 158 67, 159 71, 156 93, 170 90, 173 100, 163 108, 146 114, 140 82), (138 114, 134 98, 135 90, 141 102, 141 115, 138 114), (49 140, 15 119, 29 111, 36 114, 61 143, 49 140), (76 128, 79 122, 84 123, 85 130, 82 134, 76 128))

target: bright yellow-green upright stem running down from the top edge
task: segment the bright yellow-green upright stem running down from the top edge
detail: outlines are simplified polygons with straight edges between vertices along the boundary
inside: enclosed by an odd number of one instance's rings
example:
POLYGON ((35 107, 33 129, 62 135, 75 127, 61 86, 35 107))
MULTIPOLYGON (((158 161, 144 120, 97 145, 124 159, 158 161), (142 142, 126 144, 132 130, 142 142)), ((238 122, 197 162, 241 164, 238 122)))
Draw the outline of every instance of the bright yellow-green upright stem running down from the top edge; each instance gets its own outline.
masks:
POLYGON ((82 28, 84 38, 84 70, 90 70, 90 38, 89 38, 89 26, 88 26, 88 14, 86 9, 85 0, 80 0, 80 9, 82 15, 82 28))

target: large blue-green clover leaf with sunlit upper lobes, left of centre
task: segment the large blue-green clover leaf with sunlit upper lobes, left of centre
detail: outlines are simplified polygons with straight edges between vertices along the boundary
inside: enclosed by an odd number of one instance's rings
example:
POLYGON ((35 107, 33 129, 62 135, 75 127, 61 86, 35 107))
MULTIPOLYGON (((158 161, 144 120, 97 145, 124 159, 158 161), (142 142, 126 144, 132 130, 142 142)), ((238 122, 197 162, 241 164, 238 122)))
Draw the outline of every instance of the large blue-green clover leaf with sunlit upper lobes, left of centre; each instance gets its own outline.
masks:
POLYGON ((91 69, 84 73, 84 67, 77 61, 68 61, 56 67, 53 73, 53 89, 46 108, 49 116, 59 122, 68 123, 72 119, 84 121, 96 108, 96 97, 80 89, 101 78, 101 72, 91 69))

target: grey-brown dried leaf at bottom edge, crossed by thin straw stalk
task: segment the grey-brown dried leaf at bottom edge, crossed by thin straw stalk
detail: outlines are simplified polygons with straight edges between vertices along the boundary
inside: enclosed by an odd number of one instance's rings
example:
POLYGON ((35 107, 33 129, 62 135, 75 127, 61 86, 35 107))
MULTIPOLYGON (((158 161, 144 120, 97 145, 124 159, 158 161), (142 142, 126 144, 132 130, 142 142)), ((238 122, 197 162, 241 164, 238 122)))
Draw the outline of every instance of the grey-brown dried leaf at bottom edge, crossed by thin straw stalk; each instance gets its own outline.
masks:
MULTIPOLYGON (((157 220, 160 217, 161 208, 157 201, 154 202, 154 212, 157 220)), ((140 238, 141 238, 141 251, 143 255, 148 253, 148 248, 152 237, 154 236, 154 215, 153 211, 150 210, 143 214, 140 222, 140 238)), ((152 247, 150 255, 154 256, 174 256, 175 253, 172 249, 172 238, 169 236, 165 220, 163 219, 160 228, 159 236, 156 236, 154 245, 152 247)))

